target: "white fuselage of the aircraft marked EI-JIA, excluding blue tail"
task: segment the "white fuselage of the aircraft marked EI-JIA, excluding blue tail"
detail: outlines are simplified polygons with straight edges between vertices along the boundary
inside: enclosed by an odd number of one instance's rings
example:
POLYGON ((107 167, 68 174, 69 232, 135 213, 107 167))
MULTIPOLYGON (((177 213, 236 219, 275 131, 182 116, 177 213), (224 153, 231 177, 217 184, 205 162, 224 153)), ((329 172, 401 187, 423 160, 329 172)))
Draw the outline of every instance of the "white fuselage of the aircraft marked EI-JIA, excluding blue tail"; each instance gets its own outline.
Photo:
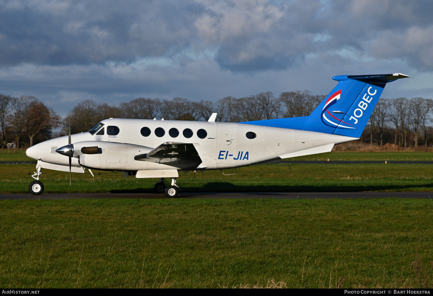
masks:
MULTIPOLYGON (((104 135, 91 135, 89 132, 71 135, 74 144, 73 166, 118 171, 145 171, 176 169, 226 169, 258 164, 286 157, 327 152, 334 144, 355 140, 341 135, 285 129, 262 125, 232 122, 200 122, 149 119, 106 119, 104 135), (107 135, 107 127, 119 128, 117 135, 107 135), (148 127, 150 135, 145 137, 140 130, 148 127), (158 137, 155 129, 162 128, 165 135, 158 137), (169 130, 178 129, 179 135, 171 137, 169 130), (191 129, 193 135, 186 138, 184 129, 191 129), (197 130, 204 129, 206 137, 199 138, 197 130), (255 138, 247 138, 247 132, 254 132, 255 138), (89 142, 90 141, 90 142, 89 142), (202 163, 197 167, 184 165, 158 164, 150 161, 137 161, 136 155, 150 152, 164 142, 193 143, 202 163), (86 143, 81 143, 86 142, 86 143), (80 148, 98 146, 100 154, 81 154, 80 148)), ((27 149, 26 154, 51 164, 69 165, 67 156, 55 150, 68 145, 68 136, 51 139, 27 149)))

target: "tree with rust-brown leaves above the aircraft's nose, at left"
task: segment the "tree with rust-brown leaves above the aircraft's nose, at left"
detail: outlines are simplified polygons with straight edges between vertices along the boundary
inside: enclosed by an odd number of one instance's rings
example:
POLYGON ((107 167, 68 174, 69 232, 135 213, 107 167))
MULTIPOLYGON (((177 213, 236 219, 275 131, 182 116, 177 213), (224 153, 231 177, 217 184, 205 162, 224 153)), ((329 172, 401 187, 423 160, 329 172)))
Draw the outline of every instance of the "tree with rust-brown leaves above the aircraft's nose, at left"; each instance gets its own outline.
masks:
POLYGON ((60 116, 44 103, 34 100, 30 103, 29 112, 26 114, 25 131, 30 139, 30 147, 33 146, 33 138, 43 129, 58 128, 60 116))

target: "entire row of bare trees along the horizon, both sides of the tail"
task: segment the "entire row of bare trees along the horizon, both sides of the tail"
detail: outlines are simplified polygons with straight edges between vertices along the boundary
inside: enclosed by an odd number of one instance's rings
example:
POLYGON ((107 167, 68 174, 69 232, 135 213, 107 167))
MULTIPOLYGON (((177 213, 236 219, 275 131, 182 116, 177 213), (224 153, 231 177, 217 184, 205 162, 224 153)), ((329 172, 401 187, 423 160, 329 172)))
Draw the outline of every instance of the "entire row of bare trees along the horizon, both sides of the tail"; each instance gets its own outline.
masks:
MULTIPOLYGON (((270 91, 242 98, 227 96, 216 102, 140 97, 115 106, 84 100, 61 118, 36 97, 0 95, 0 134, 2 147, 14 140, 19 148, 65 135, 69 125, 72 133, 87 132, 107 118, 205 121, 212 113, 218 113, 217 122, 243 122, 308 116, 325 97, 297 90, 280 93, 278 97, 270 91), (60 132, 52 135, 55 129, 60 132)), ((427 146, 433 142, 433 128, 429 125, 432 111, 431 99, 379 99, 362 141, 377 145, 394 142, 403 147, 408 143, 414 143, 415 147, 427 146)))

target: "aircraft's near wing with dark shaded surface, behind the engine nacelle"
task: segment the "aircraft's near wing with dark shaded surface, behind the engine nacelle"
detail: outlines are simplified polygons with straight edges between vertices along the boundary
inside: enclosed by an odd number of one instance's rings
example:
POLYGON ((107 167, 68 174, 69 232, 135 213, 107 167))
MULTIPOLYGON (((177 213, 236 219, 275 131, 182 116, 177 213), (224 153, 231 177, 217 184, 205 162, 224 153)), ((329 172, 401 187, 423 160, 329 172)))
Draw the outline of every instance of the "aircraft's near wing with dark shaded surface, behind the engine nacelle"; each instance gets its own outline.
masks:
POLYGON ((150 161, 158 164, 201 164, 192 143, 164 142, 149 153, 136 155, 138 161, 150 161))

